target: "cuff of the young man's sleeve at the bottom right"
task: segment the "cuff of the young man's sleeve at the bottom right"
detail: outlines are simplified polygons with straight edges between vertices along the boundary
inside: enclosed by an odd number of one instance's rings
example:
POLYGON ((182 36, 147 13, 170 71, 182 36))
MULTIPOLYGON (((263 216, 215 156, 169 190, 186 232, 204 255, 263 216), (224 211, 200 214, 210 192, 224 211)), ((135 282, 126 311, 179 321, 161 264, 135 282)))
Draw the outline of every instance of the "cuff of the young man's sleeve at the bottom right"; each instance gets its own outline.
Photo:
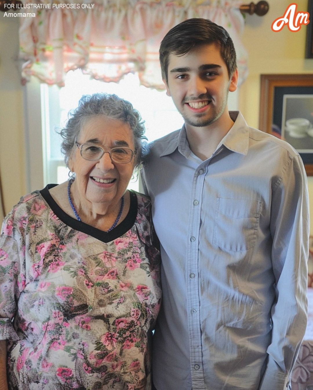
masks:
POLYGON ((258 390, 289 390, 291 389, 290 380, 290 375, 282 372, 273 358, 269 356, 269 361, 258 390))

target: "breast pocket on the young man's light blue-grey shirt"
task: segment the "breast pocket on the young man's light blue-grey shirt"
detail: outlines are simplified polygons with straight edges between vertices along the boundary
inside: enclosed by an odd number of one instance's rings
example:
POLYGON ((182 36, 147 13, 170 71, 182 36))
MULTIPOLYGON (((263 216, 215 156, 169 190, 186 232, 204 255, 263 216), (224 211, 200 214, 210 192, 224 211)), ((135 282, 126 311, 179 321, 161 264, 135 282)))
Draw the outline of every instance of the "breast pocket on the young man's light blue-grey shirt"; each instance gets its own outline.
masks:
POLYGON ((255 245, 260 217, 259 200, 216 199, 213 244, 227 252, 239 252, 255 245))

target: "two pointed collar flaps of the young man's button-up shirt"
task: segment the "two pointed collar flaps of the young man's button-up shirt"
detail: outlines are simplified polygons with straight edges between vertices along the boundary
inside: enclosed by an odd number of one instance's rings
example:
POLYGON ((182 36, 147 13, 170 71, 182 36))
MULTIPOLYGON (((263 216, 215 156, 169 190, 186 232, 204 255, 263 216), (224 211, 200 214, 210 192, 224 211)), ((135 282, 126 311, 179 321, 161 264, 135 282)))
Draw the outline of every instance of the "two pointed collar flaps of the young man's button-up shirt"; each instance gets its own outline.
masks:
MULTIPOLYGON (((249 147, 249 126, 239 111, 230 111, 229 115, 234 121, 234 124, 221 140, 216 150, 222 145, 225 145, 227 149, 230 149, 233 152, 247 154, 249 147)), ((160 156, 167 156, 168 154, 173 153, 177 148, 185 157, 189 156, 191 152, 187 142, 185 125, 182 126, 180 132, 169 141, 168 147, 160 156)))

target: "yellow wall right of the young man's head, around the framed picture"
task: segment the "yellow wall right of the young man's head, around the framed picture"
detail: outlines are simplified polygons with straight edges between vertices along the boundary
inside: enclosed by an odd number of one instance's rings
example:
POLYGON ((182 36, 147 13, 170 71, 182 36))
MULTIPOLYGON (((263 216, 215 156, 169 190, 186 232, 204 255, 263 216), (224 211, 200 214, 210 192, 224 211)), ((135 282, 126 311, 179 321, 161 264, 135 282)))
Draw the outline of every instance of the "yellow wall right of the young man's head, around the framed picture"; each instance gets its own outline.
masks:
MULTIPOLYGON (((258 128, 260 105, 260 74, 312 73, 313 59, 305 59, 306 27, 290 32, 285 26, 273 32, 272 22, 283 16, 290 0, 267 0, 269 12, 262 17, 246 17, 242 42, 248 51, 249 76, 240 87, 239 108, 250 126, 258 128)), ((244 2, 243 2, 244 3, 244 2)), ((247 4, 249 2, 246 2, 247 4)), ((256 2, 255 2, 256 3, 256 2)), ((307 11, 308 0, 298 0, 298 11, 307 11)), ((313 23, 313 15, 310 17, 313 23)), ((313 234, 313 176, 308 177, 311 234, 313 234)))

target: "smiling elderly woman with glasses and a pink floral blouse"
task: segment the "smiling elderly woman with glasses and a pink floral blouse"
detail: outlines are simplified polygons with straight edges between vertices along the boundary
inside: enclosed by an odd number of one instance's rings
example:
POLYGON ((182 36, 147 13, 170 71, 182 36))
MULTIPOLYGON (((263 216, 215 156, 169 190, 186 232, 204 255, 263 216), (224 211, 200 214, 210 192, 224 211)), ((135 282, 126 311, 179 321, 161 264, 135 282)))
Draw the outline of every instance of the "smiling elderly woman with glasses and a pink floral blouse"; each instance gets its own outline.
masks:
POLYGON ((127 190, 143 133, 131 103, 83 96, 61 131, 72 178, 5 218, 0 389, 150 389, 160 254, 149 199, 127 190))

